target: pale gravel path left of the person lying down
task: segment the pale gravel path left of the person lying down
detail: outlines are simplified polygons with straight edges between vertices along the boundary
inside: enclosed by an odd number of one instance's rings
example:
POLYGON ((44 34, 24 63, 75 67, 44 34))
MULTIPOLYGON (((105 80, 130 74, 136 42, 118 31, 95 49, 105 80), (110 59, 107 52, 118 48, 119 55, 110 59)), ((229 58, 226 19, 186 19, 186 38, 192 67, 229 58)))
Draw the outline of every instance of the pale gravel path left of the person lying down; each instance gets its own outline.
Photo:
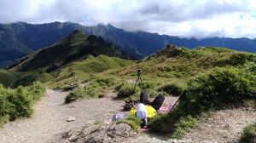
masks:
POLYGON ((124 101, 109 98, 80 100, 63 105, 67 92, 47 90, 35 106, 31 118, 7 123, 0 129, 1 143, 42 143, 55 138, 55 134, 112 117, 122 109, 124 101), (67 117, 76 117, 67 122, 67 117))

